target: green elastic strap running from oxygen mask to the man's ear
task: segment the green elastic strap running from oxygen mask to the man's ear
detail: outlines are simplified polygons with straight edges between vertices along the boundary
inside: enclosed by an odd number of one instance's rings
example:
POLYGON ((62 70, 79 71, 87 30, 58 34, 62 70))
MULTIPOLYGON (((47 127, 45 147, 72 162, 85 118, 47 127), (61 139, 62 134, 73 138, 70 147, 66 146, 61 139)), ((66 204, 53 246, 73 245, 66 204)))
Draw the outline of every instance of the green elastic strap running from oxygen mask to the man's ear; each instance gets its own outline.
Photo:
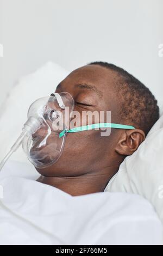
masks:
POLYGON ((75 127, 73 129, 70 129, 70 130, 64 130, 64 131, 59 133, 59 138, 64 136, 64 134, 66 132, 82 132, 82 131, 92 130, 92 129, 96 129, 96 128, 135 129, 134 126, 124 125, 124 124, 113 124, 113 123, 90 124, 90 125, 75 127))

